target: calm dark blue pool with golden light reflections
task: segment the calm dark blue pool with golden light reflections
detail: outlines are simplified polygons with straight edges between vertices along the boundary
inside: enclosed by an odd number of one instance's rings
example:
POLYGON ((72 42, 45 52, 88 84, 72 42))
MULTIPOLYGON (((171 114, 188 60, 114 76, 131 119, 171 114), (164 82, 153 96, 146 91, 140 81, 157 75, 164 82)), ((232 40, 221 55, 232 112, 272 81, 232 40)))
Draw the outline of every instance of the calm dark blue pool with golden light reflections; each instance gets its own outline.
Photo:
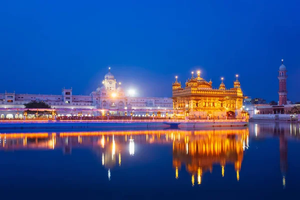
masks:
POLYGON ((1 193, 13 196, 41 190, 119 199, 285 195, 300 186, 299 124, 5 130, 0 171, 1 193))

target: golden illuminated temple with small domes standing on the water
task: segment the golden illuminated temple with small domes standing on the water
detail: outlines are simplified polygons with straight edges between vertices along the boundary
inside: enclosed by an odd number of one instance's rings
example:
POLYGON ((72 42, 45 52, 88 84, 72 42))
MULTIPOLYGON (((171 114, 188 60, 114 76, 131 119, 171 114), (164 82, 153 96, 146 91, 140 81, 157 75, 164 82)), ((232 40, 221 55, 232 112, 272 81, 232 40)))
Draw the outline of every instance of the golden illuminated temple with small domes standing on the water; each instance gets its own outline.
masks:
POLYGON ((192 76, 185 82, 185 87, 177 81, 172 84, 173 109, 190 117, 226 118, 241 117, 243 94, 240 82, 233 82, 233 88, 226 89, 222 81, 218 88, 212 88, 212 81, 207 82, 197 71, 197 77, 192 76))

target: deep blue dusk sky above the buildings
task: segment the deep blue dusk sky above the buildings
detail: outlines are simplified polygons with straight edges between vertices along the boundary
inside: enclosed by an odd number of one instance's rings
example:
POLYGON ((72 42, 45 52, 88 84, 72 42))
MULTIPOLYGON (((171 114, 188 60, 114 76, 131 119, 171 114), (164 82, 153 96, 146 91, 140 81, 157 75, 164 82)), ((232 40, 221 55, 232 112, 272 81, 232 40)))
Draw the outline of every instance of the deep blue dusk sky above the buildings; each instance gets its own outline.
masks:
POLYGON ((245 95, 300 101, 299 1, 6 0, 0 3, 0 92, 89 94, 108 66, 142 96, 171 96, 191 70, 217 87, 239 74, 245 95))

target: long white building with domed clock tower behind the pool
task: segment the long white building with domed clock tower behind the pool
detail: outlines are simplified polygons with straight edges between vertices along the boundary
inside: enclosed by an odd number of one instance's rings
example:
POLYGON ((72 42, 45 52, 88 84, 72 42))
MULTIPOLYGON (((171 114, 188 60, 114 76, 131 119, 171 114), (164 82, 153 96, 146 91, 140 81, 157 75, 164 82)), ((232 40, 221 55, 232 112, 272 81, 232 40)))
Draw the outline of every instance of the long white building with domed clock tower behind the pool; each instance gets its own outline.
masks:
MULTIPOLYGON (((101 115, 102 111, 108 110, 111 115, 124 115, 127 109, 135 110, 133 116, 145 116, 149 109, 159 110, 161 115, 164 115, 165 110, 172 109, 171 98, 132 96, 132 89, 125 92, 121 83, 117 82, 110 72, 110 67, 101 84, 102 86, 99 85, 90 95, 73 95, 72 88, 62 88, 60 95, 17 94, 5 91, 0 93, 0 117, 22 118, 23 104, 30 101, 45 102, 56 109, 57 116, 77 116, 78 111, 81 111, 83 116, 101 115)), ((30 114, 27 117, 34 118, 35 115, 30 114)))

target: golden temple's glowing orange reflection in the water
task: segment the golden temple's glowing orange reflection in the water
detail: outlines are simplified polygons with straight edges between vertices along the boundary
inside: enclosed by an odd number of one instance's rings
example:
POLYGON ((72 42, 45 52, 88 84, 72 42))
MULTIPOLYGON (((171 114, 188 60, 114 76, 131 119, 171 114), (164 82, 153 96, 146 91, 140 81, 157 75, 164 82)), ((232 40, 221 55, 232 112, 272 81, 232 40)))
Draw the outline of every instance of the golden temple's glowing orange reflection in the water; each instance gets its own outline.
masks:
POLYGON ((239 171, 243 159, 243 150, 248 148, 248 129, 227 129, 194 131, 181 139, 173 140, 173 167, 175 177, 181 164, 191 174, 191 183, 194 185, 194 176, 197 184, 201 184, 202 174, 212 172, 213 165, 220 165, 220 174, 224 176, 226 164, 234 164, 236 178, 239 180, 239 171))

